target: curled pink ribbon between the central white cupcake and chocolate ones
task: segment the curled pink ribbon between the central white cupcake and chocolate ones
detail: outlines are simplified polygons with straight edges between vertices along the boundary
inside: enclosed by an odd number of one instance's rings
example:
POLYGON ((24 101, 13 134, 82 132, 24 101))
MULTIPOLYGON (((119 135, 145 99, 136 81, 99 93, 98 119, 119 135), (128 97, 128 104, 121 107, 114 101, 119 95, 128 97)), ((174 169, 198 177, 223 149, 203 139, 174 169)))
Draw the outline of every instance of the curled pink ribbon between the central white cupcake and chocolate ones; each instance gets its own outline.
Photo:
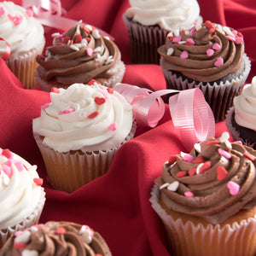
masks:
POLYGON ((116 84, 113 87, 131 103, 138 125, 155 127, 165 113, 165 103, 160 98, 177 93, 169 98, 172 122, 183 142, 190 151, 195 143, 215 136, 215 120, 200 89, 157 90, 139 88, 131 84, 116 84))

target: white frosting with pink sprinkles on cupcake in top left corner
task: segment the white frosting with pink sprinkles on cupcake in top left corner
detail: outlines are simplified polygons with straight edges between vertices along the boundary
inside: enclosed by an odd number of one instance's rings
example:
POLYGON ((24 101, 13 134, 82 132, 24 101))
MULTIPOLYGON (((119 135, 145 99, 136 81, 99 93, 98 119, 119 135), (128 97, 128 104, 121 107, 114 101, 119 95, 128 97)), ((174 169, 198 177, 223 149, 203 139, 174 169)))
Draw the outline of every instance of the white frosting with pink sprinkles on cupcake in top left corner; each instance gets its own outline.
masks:
POLYGON ((26 9, 15 3, 0 3, 0 38, 6 40, 13 57, 36 49, 44 42, 44 27, 26 9))

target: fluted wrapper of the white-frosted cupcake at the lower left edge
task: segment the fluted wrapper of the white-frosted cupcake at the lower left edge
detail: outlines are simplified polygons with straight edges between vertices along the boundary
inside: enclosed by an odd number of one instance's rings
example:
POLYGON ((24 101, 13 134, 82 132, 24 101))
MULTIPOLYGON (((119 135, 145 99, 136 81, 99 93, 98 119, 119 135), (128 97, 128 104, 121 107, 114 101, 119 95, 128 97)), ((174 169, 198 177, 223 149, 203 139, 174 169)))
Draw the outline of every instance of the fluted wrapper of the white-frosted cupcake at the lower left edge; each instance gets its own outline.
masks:
POLYGON ((34 224, 38 224, 39 218, 44 208, 44 203, 45 203, 45 192, 44 192, 44 189, 42 188, 41 197, 38 201, 37 207, 33 210, 33 212, 31 212, 31 214, 26 218, 20 220, 20 223, 14 224, 13 226, 8 226, 0 230, 0 235, 1 235, 0 247, 3 247, 3 244, 5 243, 5 241, 7 241, 9 236, 15 234, 16 231, 26 230, 26 228, 29 228, 34 224))

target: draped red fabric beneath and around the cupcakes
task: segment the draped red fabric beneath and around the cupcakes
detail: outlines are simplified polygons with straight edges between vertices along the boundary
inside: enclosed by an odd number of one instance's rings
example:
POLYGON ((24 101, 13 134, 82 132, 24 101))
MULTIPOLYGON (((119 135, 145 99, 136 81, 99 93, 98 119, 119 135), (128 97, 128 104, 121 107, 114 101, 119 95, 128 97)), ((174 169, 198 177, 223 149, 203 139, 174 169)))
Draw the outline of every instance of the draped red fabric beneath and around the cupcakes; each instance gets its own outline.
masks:
MULTIPOLYGON (((14 1, 20 4, 21 0, 14 1)), ((152 90, 165 89, 165 80, 157 65, 133 65, 128 34, 122 20, 128 0, 62 0, 66 16, 83 20, 115 38, 126 64, 124 83, 152 90)), ((246 52, 252 61, 247 79, 256 75, 256 2, 255 0, 198 0, 204 20, 231 26, 243 33, 246 52)), ((46 34, 50 44, 50 30, 46 34)), ((41 155, 32 137, 32 119, 40 106, 49 102, 49 94, 26 90, 0 60, 0 147, 9 148, 31 164, 38 165, 44 177, 46 203, 41 222, 68 220, 89 224, 102 233, 113 255, 169 255, 160 219, 149 204, 154 178, 160 176, 163 163, 171 154, 184 151, 172 119, 166 111, 154 129, 138 127, 137 135, 119 149, 109 172, 68 195, 50 187, 41 155)), ((167 108, 166 108, 167 109, 167 108)), ((216 137, 227 128, 216 124, 216 137)))

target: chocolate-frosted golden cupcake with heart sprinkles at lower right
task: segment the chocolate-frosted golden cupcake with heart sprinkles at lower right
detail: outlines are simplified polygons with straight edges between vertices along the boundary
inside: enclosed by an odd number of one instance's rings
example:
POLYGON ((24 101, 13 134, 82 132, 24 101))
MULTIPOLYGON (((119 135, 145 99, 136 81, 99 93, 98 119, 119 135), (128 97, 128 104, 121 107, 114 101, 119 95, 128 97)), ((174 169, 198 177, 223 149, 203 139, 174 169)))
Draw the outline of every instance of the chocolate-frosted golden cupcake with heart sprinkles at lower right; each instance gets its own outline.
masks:
POLYGON ((256 152, 228 138, 171 156, 154 180, 150 201, 172 255, 256 253, 256 152))

